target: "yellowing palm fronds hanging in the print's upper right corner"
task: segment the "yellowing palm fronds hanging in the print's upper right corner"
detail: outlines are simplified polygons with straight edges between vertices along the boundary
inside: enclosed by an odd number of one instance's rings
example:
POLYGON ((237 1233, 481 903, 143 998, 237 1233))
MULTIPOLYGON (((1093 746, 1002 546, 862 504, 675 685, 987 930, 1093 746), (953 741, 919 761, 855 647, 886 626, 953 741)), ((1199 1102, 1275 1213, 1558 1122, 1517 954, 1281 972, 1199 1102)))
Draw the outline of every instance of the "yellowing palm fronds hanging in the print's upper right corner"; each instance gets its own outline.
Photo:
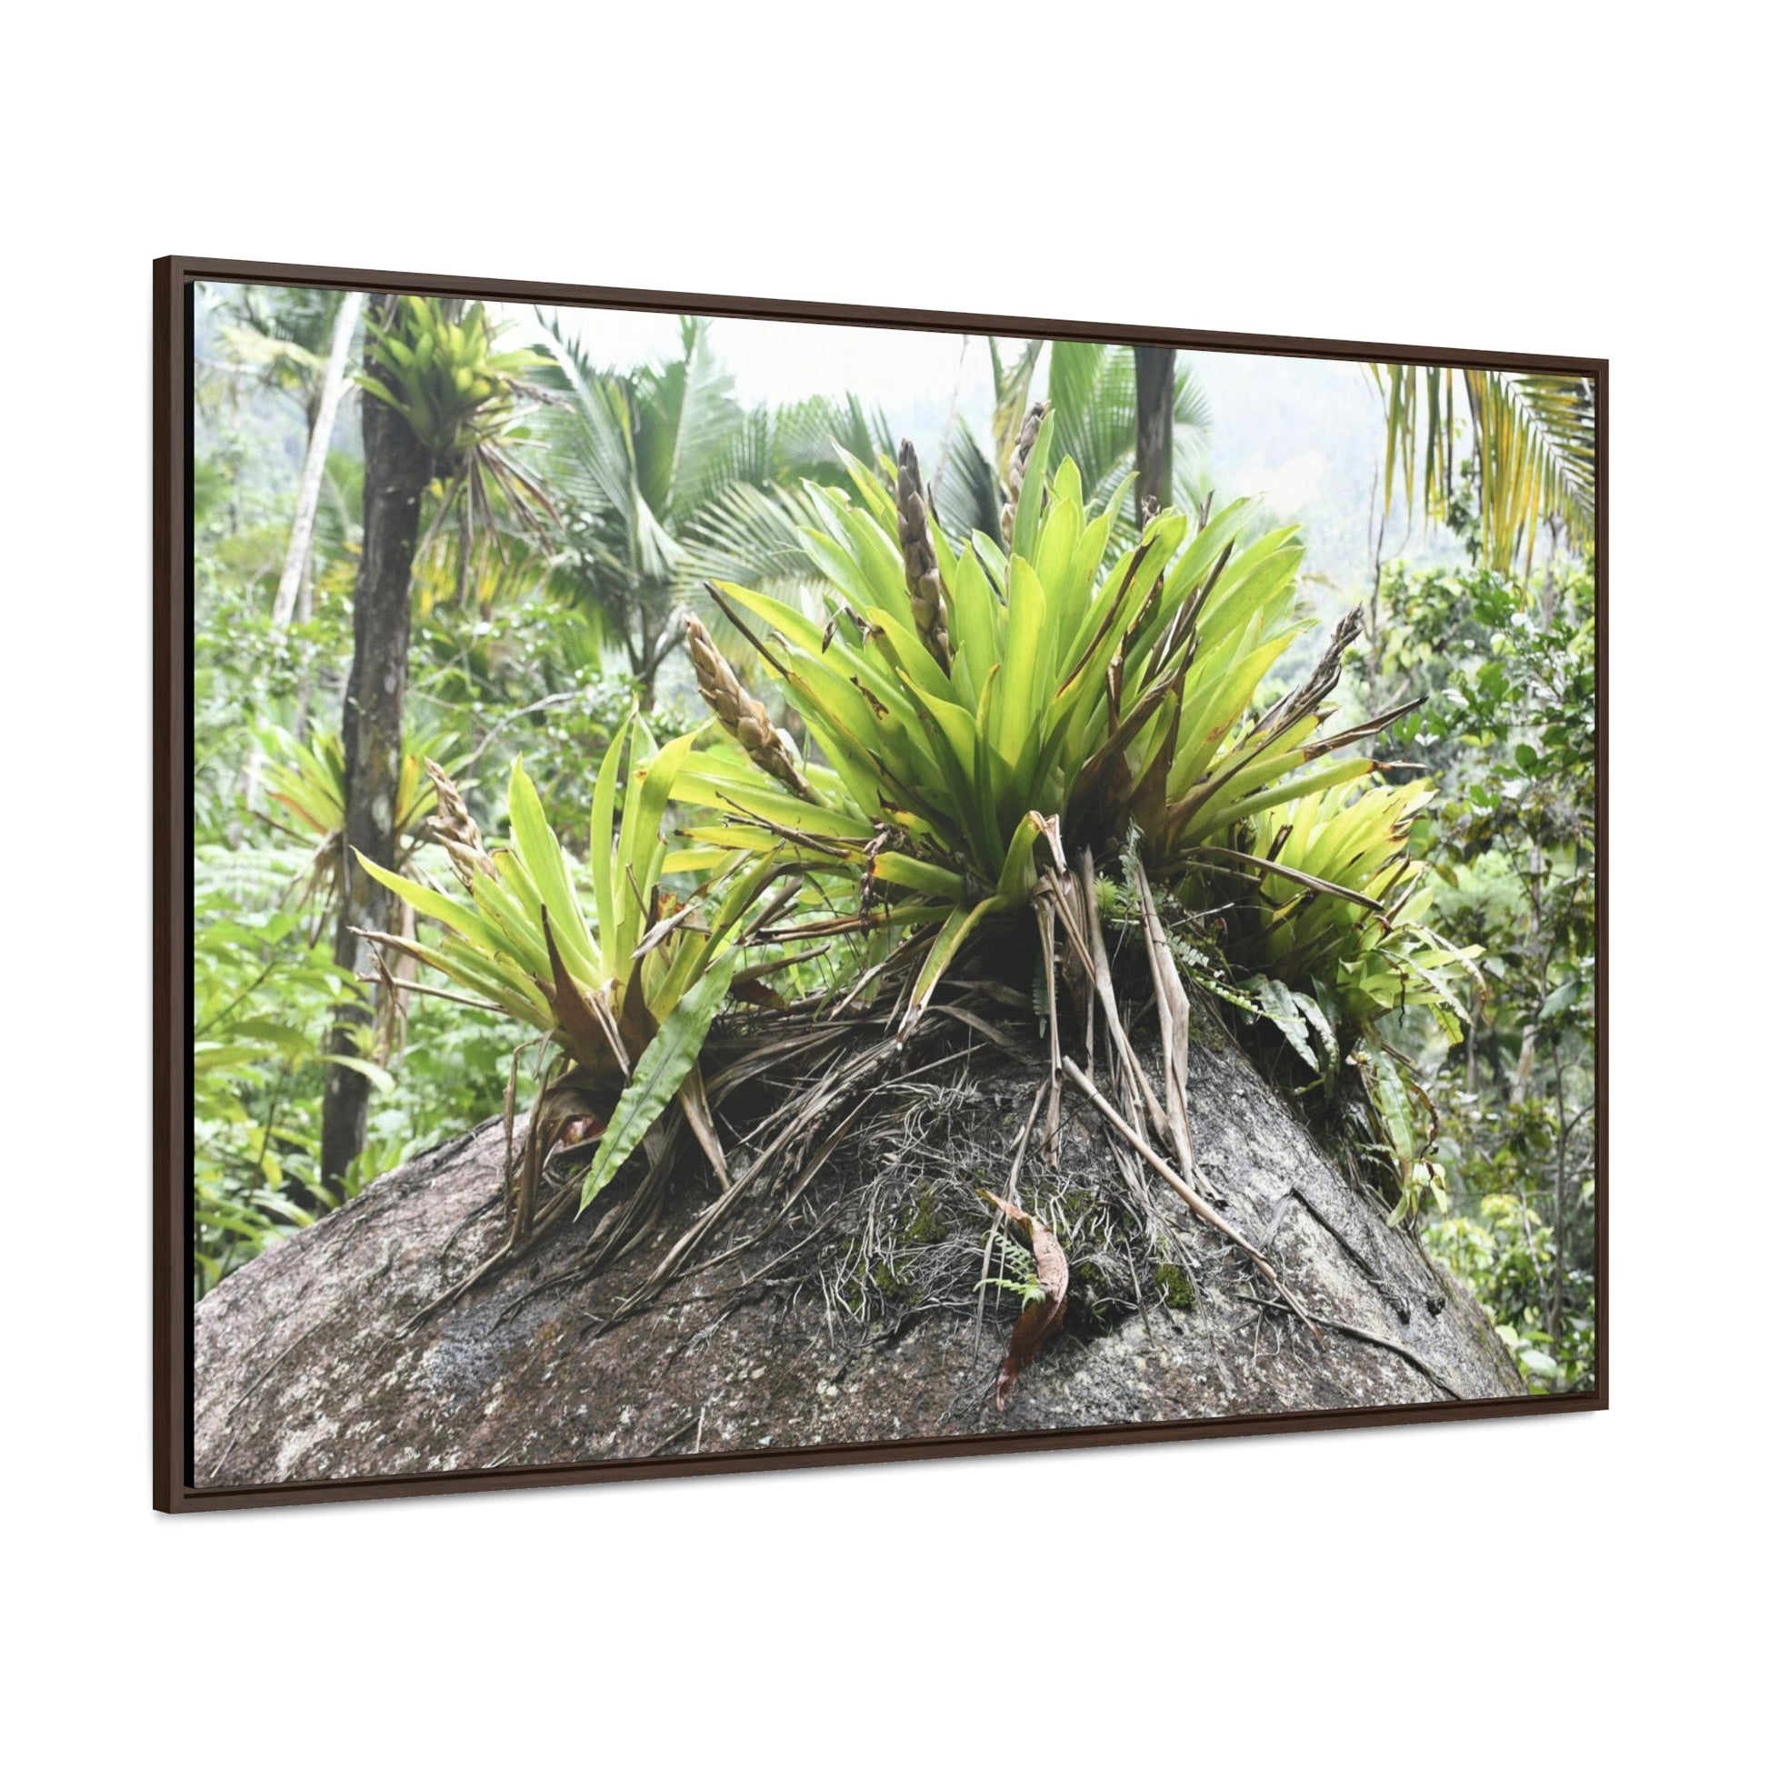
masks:
POLYGON ((1511 571, 1521 554, 1527 573, 1535 531, 1544 522, 1558 524, 1573 547, 1590 547, 1597 506, 1597 407, 1589 380, 1497 368, 1421 370, 1410 363, 1373 363, 1371 373, 1387 410, 1387 504, 1394 502, 1394 469, 1399 465, 1406 508, 1412 509, 1421 494, 1428 520, 1449 515, 1459 379, 1474 446, 1482 563, 1511 571))

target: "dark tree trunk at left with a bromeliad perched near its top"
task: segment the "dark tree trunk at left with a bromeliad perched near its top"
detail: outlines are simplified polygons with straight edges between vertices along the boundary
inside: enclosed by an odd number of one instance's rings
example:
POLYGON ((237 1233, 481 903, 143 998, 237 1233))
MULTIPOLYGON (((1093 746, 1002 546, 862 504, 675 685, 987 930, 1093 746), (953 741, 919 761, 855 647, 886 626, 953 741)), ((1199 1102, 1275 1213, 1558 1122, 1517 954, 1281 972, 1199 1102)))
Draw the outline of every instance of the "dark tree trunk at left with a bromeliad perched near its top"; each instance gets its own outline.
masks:
MULTIPOLYGON (((405 419, 384 400, 363 402, 363 561, 356 575, 356 649, 343 699, 345 849, 338 892, 334 961, 354 971, 357 927, 386 929, 387 892, 352 862, 352 849, 396 867, 393 814, 400 784, 400 729, 410 647, 412 555, 430 458, 405 419)), ((361 1054, 371 1010, 359 998, 338 1010, 331 1047, 361 1054)), ((325 1076, 320 1173, 336 1178, 363 1152, 368 1077, 338 1063, 325 1076)))

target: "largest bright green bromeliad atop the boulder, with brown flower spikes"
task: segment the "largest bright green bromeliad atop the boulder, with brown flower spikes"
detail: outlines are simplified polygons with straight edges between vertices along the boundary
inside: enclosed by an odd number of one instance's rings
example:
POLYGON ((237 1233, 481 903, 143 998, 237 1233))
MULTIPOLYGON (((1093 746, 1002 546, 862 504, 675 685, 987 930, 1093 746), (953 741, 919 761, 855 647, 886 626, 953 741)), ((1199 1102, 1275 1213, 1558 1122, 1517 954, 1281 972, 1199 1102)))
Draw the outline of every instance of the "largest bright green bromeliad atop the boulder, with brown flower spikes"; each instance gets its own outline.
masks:
POLYGON ((856 499, 807 488, 823 520, 801 534, 826 577, 823 623, 713 586, 835 780, 766 770, 739 791, 729 762, 695 757, 678 796, 739 812, 699 831, 709 847, 785 844, 862 872, 902 920, 939 916, 904 1031, 984 920, 1028 907, 1040 879, 1067 870, 1065 835, 1104 849, 1136 824, 1153 877, 1194 863, 1267 870, 1224 846, 1226 831, 1367 773, 1367 759, 1332 752, 1408 709, 1321 732, 1352 617, 1314 674, 1258 716, 1263 683, 1307 626, 1295 616, 1295 531, 1237 554, 1247 502, 1196 524, 1162 511, 1111 559, 1127 486, 1090 513, 1076 463, 1049 472, 1044 416, 1033 407, 1010 463, 1007 552, 982 532, 953 547, 906 442, 895 492, 858 462, 856 499))

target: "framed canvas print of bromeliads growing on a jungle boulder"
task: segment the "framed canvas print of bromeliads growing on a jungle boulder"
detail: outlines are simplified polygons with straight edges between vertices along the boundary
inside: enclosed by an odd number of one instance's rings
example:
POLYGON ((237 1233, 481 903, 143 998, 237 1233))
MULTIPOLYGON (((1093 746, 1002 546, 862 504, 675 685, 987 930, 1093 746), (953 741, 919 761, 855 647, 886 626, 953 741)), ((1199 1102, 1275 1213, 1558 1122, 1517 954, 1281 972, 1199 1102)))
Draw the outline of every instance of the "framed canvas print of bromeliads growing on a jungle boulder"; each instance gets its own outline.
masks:
POLYGON ((159 1507, 1606 1405, 1603 361, 154 301, 159 1507))

